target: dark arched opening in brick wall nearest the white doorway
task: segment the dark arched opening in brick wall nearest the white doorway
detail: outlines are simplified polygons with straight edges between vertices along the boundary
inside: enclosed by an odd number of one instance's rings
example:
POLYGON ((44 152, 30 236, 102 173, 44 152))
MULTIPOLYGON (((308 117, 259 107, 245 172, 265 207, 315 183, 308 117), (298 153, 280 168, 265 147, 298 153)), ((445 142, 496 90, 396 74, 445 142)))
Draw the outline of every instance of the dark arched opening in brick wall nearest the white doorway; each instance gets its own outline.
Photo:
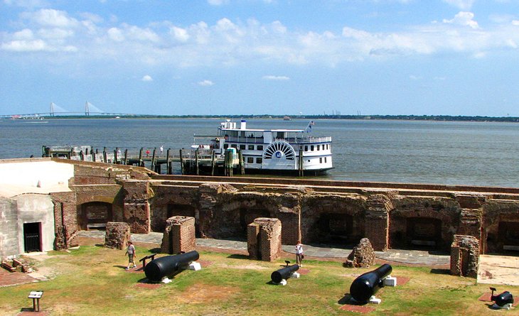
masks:
POLYGON ((105 229, 113 217, 112 204, 107 202, 88 202, 81 205, 77 219, 79 229, 105 229))

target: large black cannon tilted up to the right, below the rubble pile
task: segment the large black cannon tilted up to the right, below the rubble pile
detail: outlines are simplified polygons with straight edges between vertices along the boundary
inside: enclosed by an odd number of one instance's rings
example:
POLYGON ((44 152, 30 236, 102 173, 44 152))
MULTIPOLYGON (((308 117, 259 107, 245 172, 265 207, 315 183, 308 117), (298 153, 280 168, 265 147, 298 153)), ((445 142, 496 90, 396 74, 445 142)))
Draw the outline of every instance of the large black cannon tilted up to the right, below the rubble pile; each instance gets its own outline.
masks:
POLYGON ((360 303, 367 303, 371 296, 384 286, 384 278, 392 271, 389 264, 385 263, 373 271, 358 276, 350 286, 351 297, 360 303))

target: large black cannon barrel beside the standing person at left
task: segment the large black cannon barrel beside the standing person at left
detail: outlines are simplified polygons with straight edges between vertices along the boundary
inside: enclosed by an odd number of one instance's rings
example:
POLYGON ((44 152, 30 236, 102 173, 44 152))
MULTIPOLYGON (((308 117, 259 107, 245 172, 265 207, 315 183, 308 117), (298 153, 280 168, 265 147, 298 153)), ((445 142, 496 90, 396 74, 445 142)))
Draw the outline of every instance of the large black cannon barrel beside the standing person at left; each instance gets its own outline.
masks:
POLYGON ((179 271, 183 266, 188 266, 191 262, 197 261, 198 258, 200 258, 200 254, 194 250, 185 254, 156 258, 146 264, 144 273, 148 280, 159 282, 165 276, 171 276, 179 271))

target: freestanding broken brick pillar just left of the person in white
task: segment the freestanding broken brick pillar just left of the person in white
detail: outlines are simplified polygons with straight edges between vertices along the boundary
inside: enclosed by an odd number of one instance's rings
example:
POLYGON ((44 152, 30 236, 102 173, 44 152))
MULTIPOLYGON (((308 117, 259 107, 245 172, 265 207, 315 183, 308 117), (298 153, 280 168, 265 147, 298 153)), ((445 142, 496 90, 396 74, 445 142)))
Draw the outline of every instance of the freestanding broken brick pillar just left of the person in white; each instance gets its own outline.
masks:
POLYGON ((247 226, 247 250, 251 259, 275 261, 281 256, 281 221, 260 217, 247 226))

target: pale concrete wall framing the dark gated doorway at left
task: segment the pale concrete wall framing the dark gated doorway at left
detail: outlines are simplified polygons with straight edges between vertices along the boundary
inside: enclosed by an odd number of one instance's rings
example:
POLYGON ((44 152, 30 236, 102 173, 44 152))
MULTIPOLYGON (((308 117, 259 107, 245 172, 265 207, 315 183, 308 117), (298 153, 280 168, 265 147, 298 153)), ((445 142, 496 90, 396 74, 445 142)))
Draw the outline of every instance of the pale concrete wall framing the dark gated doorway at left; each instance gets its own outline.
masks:
POLYGON ((54 204, 50 195, 25 194, 15 197, 18 204, 18 251, 25 252, 23 224, 41 222, 41 245, 43 251, 54 249, 54 204))

